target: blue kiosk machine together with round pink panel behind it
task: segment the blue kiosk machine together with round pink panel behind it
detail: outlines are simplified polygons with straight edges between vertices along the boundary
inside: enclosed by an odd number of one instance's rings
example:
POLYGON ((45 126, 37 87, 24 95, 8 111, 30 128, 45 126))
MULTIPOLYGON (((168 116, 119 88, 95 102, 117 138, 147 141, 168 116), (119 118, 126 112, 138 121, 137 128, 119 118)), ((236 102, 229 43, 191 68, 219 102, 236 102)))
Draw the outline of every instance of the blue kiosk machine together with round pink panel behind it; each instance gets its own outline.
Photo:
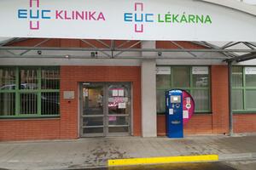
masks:
POLYGON ((169 138, 183 138, 183 125, 195 111, 195 102, 185 90, 166 92, 166 134, 169 138))

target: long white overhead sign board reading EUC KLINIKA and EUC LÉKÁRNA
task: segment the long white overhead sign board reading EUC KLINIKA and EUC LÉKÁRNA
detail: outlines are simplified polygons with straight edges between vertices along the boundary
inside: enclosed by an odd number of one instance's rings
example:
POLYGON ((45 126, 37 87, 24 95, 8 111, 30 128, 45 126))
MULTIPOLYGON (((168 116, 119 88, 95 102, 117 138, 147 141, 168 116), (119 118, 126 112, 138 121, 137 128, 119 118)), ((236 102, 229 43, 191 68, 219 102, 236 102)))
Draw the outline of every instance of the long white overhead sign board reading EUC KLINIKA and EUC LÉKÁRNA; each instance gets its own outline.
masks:
POLYGON ((253 16, 193 0, 1 0, 0 22, 0 37, 256 41, 253 16))

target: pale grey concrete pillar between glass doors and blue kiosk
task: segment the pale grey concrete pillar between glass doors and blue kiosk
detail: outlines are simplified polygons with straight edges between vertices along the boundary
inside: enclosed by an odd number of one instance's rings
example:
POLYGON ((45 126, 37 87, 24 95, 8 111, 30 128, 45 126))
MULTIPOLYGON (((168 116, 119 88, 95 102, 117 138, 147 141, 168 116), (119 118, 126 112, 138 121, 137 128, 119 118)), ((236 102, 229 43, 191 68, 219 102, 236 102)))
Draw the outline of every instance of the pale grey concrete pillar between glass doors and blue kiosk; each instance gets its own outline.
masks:
MULTIPOLYGON (((146 45, 153 45, 154 42, 146 42, 146 45)), ((145 45, 145 43, 143 43, 145 45)), ((154 46, 155 47, 155 46, 154 46)), ((145 48, 145 46, 143 46, 145 48)), ((152 48, 152 47, 150 47, 152 48)), ((148 53, 143 56, 148 57, 148 53)), ((150 56, 149 56, 150 57, 150 56)), ((142 61, 142 130, 143 137, 157 136, 156 123, 156 80, 155 80, 155 59, 143 59, 142 61)))

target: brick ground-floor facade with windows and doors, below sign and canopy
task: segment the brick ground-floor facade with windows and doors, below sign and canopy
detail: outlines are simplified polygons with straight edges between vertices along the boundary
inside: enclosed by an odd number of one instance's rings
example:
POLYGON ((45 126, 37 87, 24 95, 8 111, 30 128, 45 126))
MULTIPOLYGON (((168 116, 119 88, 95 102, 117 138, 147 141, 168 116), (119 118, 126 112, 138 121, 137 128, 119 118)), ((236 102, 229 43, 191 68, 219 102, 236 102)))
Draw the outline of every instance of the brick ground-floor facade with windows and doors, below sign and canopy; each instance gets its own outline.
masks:
MULTIPOLYGON (((41 41, 32 38, 9 45, 27 47, 41 41)), ((138 42, 134 48, 149 46, 205 48, 193 42, 138 42)), ((49 39, 44 47, 81 48, 84 42, 49 39)), ((223 61, 150 59, 148 52, 130 55, 149 59, 1 59, 0 139, 165 136, 165 91, 173 88, 185 89, 195 99, 185 135, 229 133, 228 65, 223 61)), ((233 66, 235 133, 256 132, 254 69, 247 63, 233 66)))

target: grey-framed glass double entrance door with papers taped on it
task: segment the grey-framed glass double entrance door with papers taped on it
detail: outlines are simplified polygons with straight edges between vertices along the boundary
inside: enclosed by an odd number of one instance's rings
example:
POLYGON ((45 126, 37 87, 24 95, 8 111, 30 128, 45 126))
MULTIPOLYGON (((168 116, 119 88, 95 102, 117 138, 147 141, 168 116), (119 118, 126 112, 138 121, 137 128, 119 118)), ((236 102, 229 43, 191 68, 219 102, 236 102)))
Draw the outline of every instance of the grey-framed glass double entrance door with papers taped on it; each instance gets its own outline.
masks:
POLYGON ((131 83, 83 83, 80 136, 131 134, 131 83))

